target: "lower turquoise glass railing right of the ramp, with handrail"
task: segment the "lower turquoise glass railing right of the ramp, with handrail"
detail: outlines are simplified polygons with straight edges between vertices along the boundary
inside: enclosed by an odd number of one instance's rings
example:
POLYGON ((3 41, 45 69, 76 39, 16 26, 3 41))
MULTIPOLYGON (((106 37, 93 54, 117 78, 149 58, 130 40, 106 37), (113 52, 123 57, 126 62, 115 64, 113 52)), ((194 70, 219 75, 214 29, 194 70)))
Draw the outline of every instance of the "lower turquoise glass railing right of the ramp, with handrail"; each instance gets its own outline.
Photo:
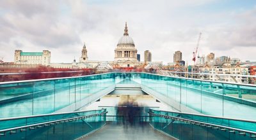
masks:
POLYGON ((255 139, 256 122, 150 109, 150 125, 177 139, 255 139))

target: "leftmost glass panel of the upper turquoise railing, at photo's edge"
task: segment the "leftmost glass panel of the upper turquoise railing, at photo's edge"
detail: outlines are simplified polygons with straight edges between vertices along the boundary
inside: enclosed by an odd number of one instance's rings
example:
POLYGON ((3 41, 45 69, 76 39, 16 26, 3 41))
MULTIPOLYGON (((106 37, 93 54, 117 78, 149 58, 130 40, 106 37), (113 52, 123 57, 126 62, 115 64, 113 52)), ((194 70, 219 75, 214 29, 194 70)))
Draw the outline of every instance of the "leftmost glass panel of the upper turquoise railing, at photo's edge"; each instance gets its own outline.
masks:
POLYGON ((33 82, 0 85, 0 118, 32 115, 33 82))

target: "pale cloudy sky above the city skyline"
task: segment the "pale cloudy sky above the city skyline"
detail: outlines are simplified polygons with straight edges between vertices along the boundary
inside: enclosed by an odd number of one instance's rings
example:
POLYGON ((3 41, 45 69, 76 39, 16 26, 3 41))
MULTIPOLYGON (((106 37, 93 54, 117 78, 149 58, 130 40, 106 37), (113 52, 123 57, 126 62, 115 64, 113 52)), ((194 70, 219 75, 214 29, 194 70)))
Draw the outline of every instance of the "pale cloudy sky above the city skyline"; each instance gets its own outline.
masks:
POLYGON ((114 60, 125 22, 141 60, 150 50, 166 64, 180 50, 192 64, 202 32, 199 55, 256 61, 255 0, 0 1, 0 59, 49 50, 51 62, 72 62, 85 43, 88 60, 114 60))

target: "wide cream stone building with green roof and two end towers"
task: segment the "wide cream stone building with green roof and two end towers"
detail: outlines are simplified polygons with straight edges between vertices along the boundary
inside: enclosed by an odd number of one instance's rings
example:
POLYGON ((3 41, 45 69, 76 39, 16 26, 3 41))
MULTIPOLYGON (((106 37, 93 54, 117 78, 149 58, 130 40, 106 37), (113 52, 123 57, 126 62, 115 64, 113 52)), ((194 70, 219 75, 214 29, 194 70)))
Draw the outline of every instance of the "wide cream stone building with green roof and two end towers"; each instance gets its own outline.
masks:
POLYGON ((22 52, 22 50, 15 50, 14 64, 48 66, 51 64, 51 52, 49 50, 43 50, 43 52, 22 52))

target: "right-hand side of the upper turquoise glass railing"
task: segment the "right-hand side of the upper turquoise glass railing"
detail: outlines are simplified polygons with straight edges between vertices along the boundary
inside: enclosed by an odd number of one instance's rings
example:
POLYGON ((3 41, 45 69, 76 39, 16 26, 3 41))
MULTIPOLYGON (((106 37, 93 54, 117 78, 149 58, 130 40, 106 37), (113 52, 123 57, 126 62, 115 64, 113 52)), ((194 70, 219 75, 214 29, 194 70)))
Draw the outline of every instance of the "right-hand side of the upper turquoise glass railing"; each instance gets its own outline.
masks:
POLYGON ((141 88, 177 111, 255 120, 255 85, 141 73, 141 88))

